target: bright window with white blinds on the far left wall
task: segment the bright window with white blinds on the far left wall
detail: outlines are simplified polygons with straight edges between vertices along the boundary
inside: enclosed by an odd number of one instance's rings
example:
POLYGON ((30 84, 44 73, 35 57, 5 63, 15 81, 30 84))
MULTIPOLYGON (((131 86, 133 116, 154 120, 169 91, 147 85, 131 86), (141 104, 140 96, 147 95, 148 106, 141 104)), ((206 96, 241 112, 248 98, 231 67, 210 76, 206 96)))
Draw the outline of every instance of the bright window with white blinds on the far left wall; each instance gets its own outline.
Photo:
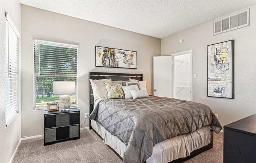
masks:
POLYGON ((6 109, 5 123, 8 125, 19 111, 19 36, 18 30, 5 13, 6 17, 6 109))

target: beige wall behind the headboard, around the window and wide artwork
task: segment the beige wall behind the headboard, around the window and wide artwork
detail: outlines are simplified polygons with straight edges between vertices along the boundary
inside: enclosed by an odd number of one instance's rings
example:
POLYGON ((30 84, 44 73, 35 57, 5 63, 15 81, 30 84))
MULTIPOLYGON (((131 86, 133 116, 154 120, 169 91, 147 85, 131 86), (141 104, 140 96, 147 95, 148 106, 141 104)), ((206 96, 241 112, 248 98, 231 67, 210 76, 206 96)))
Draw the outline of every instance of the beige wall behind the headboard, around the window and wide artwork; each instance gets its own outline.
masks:
MULTIPOLYGON (((152 58, 161 54, 161 40, 107 25, 22 5, 22 137, 44 133, 44 110, 33 110, 33 38, 79 44, 78 105, 81 127, 88 126, 88 72, 143 73, 152 89, 152 58), (95 45, 137 51, 137 69, 95 67, 95 45)), ((111 21, 111 20, 110 20, 111 21)))

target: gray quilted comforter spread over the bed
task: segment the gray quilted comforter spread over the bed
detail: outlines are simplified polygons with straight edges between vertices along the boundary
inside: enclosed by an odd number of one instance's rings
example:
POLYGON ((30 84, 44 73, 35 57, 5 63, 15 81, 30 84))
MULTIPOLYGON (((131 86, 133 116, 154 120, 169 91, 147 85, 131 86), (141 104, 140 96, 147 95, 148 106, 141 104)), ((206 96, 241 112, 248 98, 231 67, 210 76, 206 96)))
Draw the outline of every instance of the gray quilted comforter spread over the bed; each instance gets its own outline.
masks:
POLYGON ((155 144, 210 126, 221 125, 204 104, 174 98, 98 99, 90 119, 126 144, 124 163, 144 163, 155 144))

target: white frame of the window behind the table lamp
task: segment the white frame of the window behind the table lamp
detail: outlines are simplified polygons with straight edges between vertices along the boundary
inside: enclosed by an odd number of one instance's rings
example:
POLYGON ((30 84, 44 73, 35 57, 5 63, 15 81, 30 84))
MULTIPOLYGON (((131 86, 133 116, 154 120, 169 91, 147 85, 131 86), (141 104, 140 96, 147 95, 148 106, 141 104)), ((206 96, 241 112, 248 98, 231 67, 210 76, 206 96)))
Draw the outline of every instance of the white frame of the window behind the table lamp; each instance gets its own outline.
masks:
MULTIPOLYGON (((79 51, 79 45, 75 45, 75 44, 69 44, 69 43, 60 43, 60 42, 53 42, 53 41, 46 41, 46 40, 38 40, 38 39, 33 39, 33 46, 32 46, 32 54, 33 54, 33 110, 47 110, 47 106, 40 106, 37 107, 37 103, 36 103, 36 89, 35 89, 35 50, 34 50, 34 45, 35 43, 39 43, 39 44, 44 44, 44 45, 55 45, 58 47, 68 47, 68 48, 74 48, 77 49, 77 65, 78 65, 78 51, 79 51)), ((76 75, 77 78, 77 75, 76 75)), ((76 108, 78 107, 78 82, 76 80, 76 93, 75 93, 75 106, 71 106, 70 108, 76 108)))

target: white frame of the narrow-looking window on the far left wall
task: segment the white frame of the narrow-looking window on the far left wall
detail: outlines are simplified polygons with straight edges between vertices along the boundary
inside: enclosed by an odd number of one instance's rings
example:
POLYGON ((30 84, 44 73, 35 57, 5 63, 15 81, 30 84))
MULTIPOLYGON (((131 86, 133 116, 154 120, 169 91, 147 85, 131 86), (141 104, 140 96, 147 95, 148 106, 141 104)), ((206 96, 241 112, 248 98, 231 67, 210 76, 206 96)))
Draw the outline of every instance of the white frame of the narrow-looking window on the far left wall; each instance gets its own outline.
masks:
MULTIPOLYGON (((7 121, 6 119, 6 115, 5 115, 5 126, 8 127, 13 120, 15 120, 15 118, 17 117, 19 111, 20 111, 20 33, 18 31, 18 29, 16 28, 16 25, 13 23, 12 19, 10 18, 9 14, 5 11, 5 57, 6 57, 6 53, 8 53, 9 55, 9 25, 10 27, 13 29, 13 32, 16 34, 16 36, 18 37, 18 65, 17 65, 17 68, 18 68, 18 74, 17 74, 17 84, 16 84, 16 87, 18 89, 18 92, 17 92, 17 108, 16 108, 16 113, 15 115, 9 120, 7 121), (7 29, 7 30, 6 30, 7 29), (8 41, 7 45, 6 45, 6 41, 8 41)), ((6 58, 5 58, 6 59, 6 58)), ((8 60, 6 60, 7 63, 5 63, 5 71, 7 71, 7 75, 8 75, 8 67, 9 67, 9 58, 8 60)), ((5 80, 7 80, 8 76, 5 76, 5 80)), ((7 90, 7 87, 5 89, 5 91, 7 90)), ((5 92, 6 93, 6 92, 5 92)), ((6 96, 5 96, 5 104, 7 104, 7 101, 6 101, 6 96)), ((7 107, 5 107, 5 114, 6 114, 6 109, 7 107)))

